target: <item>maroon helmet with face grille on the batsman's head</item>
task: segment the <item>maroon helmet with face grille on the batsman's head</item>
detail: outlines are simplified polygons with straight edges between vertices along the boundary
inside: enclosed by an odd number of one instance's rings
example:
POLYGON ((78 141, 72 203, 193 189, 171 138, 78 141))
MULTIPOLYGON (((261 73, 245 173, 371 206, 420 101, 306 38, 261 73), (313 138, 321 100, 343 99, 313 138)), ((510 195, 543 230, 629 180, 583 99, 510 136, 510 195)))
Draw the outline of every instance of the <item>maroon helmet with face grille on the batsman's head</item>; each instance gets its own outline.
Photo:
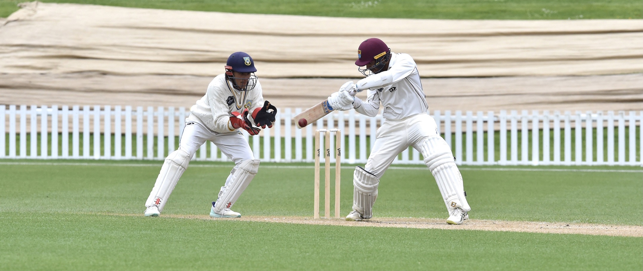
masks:
POLYGON ((384 70, 386 62, 391 58, 391 50, 386 46, 381 39, 370 38, 359 44, 358 60, 355 64, 358 66, 359 72, 363 75, 371 75, 372 73, 379 73, 384 70), (370 68, 359 68, 366 66, 371 61, 375 60, 375 64, 370 68), (372 71, 374 70, 374 71, 372 71))

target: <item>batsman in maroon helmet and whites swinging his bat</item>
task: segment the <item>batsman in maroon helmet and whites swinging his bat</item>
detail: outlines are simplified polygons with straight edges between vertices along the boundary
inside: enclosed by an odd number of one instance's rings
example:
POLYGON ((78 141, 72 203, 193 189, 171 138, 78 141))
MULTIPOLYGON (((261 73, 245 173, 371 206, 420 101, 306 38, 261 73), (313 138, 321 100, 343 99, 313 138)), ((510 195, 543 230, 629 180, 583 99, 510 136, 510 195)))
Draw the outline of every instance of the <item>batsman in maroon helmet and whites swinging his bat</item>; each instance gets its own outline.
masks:
POLYGON ((427 114, 428 104, 422 90, 417 65, 406 53, 393 53, 380 39, 363 41, 355 61, 367 77, 357 83, 346 82, 340 91, 328 98, 333 109, 375 117, 380 105, 385 121, 376 133, 376 142, 365 167, 356 167, 353 174, 353 210, 346 220, 372 218, 377 199, 377 186, 384 172, 397 155, 409 146, 424 156, 446 205, 449 224, 467 220, 467 203, 462 175, 449 145, 437 133, 435 120, 427 114), (366 90, 367 100, 355 97, 366 90))

